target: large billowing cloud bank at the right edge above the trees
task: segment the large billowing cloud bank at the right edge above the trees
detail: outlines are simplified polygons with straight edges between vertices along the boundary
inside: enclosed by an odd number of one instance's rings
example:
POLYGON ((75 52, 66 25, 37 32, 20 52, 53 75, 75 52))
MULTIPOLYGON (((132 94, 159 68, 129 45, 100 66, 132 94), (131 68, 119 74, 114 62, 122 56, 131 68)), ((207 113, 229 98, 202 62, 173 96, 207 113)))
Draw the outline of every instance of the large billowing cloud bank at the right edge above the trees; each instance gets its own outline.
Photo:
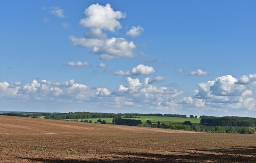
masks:
POLYGON ((219 108, 222 112, 238 108, 256 111, 256 99, 252 98, 255 76, 256 74, 250 74, 238 80, 231 75, 225 75, 199 83, 199 90, 195 91, 195 95, 185 97, 179 103, 212 110, 219 108))

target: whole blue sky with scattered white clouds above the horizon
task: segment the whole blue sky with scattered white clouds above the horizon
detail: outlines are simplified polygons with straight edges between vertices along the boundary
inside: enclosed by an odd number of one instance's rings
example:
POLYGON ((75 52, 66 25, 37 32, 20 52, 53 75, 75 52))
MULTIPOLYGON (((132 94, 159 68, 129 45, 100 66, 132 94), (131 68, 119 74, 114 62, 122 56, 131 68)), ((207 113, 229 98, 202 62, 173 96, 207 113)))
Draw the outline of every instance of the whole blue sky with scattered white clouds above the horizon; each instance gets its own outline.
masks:
POLYGON ((255 0, 0 0, 0 110, 256 117, 255 0))

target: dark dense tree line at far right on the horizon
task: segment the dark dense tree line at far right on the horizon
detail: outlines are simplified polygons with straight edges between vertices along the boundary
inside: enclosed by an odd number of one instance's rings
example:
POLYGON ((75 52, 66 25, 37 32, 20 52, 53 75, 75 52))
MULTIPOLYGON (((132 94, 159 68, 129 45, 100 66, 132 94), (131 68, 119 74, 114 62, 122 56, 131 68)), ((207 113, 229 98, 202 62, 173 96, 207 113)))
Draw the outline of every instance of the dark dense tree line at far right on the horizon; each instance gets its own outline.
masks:
POLYGON ((200 120, 200 124, 207 126, 255 127, 256 118, 236 116, 225 116, 220 118, 202 118, 200 120))

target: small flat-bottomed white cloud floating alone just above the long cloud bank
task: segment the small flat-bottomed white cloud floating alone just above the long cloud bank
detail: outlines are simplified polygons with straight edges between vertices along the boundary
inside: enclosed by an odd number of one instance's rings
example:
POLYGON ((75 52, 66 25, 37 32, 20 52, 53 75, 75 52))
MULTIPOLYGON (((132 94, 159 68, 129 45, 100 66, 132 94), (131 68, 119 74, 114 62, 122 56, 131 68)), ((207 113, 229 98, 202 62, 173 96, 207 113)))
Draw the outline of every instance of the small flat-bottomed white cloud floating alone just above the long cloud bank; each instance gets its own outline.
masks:
POLYGON ((147 65, 137 65, 133 67, 130 71, 117 71, 115 72, 116 75, 149 75, 155 72, 154 67, 147 66, 147 65))

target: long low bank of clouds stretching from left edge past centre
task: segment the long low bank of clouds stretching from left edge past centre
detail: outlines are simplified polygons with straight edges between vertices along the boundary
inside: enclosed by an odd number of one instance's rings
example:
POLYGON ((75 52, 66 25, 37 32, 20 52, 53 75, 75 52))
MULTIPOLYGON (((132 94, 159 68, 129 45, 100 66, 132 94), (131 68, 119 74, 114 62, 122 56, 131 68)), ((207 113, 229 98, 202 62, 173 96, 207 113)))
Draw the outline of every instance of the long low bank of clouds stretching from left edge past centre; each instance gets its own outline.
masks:
MULTIPOLYGON (((138 78, 126 78, 127 85, 119 85, 114 91, 104 87, 89 87, 74 80, 62 83, 33 80, 25 85, 0 83, 0 100, 23 100, 29 103, 83 103, 84 105, 108 105, 109 107, 157 107, 174 106, 173 99, 182 94, 177 89, 141 83, 138 78)), ((249 103, 249 100, 248 100, 249 103)))

